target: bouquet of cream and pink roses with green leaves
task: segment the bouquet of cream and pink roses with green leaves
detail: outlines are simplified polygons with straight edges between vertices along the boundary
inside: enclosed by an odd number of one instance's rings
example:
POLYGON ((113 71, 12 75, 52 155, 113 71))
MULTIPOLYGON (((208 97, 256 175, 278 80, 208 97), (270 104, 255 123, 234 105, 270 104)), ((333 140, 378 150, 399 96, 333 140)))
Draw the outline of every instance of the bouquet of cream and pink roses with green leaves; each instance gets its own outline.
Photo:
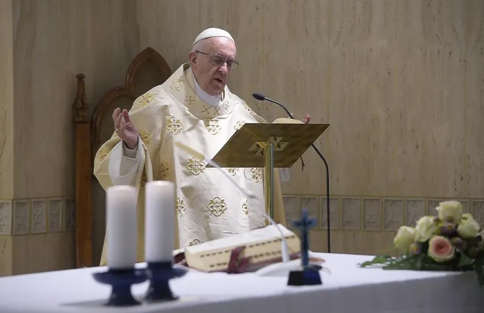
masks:
POLYGON ((435 216, 423 216, 415 227, 401 226, 394 238, 398 257, 377 256, 361 267, 412 271, 475 271, 484 285, 484 234, 458 201, 440 202, 435 216))

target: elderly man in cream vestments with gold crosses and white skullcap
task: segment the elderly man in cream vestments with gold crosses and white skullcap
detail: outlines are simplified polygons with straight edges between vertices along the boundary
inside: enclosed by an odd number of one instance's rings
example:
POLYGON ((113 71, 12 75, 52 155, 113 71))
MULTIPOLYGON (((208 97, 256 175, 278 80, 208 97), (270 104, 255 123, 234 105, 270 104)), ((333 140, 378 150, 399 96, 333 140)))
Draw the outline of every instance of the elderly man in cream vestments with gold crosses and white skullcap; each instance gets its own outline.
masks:
MULTIPOLYGON (((239 64, 234 39, 222 29, 207 29, 197 36, 188 56, 190 63, 138 97, 129 113, 115 109, 115 134, 95 158, 94 173, 104 189, 120 184, 138 188, 138 262, 144 259, 143 187, 153 179, 177 186, 177 248, 264 225, 261 168, 223 169, 245 190, 241 194, 219 169, 206 168, 203 160, 175 145, 180 141, 211 158, 244 123, 266 122, 227 87, 239 64)), ((275 171, 275 220, 285 224, 278 174, 275 171)), ((106 241, 101 264, 106 264, 106 241)))

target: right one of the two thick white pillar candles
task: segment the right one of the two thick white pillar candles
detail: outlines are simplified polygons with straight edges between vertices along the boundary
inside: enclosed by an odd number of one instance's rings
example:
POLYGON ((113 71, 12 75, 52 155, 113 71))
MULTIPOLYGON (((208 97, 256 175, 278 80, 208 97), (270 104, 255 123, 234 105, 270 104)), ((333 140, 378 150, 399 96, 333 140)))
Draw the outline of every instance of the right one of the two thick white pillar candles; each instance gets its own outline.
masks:
POLYGON ((146 262, 172 262, 175 249, 175 184, 152 181, 145 185, 146 262))

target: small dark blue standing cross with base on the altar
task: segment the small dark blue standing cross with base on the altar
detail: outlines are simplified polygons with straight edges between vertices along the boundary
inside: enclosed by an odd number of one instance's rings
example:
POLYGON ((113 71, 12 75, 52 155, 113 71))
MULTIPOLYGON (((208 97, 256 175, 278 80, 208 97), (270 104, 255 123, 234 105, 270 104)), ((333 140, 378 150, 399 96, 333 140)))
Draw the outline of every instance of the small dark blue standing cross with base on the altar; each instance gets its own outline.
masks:
POLYGON ((301 241, 301 271, 291 271, 287 282, 290 286, 307 286, 314 284, 323 284, 319 270, 321 266, 309 265, 309 229, 316 226, 317 220, 309 218, 307 209, 301 210, 301 219, 292 222, 293 227, 300 230, 301 241))

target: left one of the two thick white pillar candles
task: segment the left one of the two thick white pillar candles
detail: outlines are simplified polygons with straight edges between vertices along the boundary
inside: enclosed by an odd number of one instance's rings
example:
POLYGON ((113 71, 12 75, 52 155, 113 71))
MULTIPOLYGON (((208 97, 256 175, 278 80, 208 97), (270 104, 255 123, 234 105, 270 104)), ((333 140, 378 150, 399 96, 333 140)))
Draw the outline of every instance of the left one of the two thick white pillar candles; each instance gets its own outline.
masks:
POLYGON ((136 188, 112 186, 106 191, 108 267, 134 268, 136 263, 137 223, 136 188))

